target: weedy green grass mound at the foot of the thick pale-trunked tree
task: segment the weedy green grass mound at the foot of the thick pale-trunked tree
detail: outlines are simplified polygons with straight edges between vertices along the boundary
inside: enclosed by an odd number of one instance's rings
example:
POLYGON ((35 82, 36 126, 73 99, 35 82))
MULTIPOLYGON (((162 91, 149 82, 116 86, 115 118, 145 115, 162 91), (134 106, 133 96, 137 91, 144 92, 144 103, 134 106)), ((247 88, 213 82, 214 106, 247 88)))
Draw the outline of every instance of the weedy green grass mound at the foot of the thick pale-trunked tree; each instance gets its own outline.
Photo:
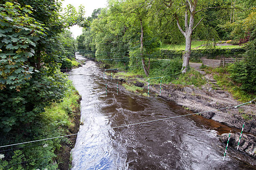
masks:
POLYGON ((188 72, 179 75, 177 80, 174 80, 174 84, 179 85, 195 85, 201 87, 207 82, 205 77, 195 69, 189 70, 188 72))

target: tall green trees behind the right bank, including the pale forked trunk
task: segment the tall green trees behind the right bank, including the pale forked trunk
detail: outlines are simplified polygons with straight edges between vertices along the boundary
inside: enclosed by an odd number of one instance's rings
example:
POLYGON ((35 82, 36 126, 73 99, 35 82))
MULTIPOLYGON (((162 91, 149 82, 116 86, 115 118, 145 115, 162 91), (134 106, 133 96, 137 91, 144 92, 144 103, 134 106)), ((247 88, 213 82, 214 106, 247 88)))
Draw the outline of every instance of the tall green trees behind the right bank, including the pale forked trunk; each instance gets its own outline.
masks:
MULTIPOLYGON (((81 39, 95 45, 98 58, 118 58, 119 52, 129 57, 130 65, 142 62, 146 75, 152 58, 148 56, 156 54, 161 43, 184 42, 182 72, 186 72, 192 40, 215 43, 232 37, 236 30, 240 31, 237 35, 243 36, 241 29, 234 29, 233 25, 248 16, 246 9, 251 11, 254 6, 251 0, 236 0, 236 3, 234 0, 111 0, 108 8, 101 9, 98 18, 92 20, 90 31, 84 32, 81 39)), ((98 10, 94 13, 98 14, 98 10)))

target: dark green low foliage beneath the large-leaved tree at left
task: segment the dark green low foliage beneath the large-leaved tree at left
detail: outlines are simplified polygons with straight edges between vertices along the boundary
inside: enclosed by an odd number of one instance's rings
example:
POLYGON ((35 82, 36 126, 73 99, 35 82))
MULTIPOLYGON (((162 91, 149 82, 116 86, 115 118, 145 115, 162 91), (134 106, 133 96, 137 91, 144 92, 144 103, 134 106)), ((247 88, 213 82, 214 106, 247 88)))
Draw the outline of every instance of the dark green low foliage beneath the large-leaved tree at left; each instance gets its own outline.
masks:
POLYGON ((15 89, 0 92, 0 130, 33 122, 34 118, 51 102, 60 101, 67 88, 67 77, 60 72, 52 76, 46 73, 35 73, 30 80, 15 89), (11 96, 11 97, 10 97, 11 96))

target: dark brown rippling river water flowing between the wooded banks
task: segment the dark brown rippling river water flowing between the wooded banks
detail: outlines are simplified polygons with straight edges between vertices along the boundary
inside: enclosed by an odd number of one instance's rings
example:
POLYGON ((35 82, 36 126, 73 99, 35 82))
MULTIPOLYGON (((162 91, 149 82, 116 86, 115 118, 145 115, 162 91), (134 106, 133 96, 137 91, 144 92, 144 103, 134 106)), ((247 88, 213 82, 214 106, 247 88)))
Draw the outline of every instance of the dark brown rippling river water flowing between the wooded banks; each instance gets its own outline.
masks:
POLYGON ((82 96, 83 122, 72 149, 72 170, 253 168, 248 165, 253 158, 231 148, 223 161, 225 146, 217 135, 232 129, 199 115, 113 128, 191 112, 159 97, 128 92, 119 84, 117 95, 116 80, 104 80, 103 70, 93 61, 73 69, 69 79, 82 96))

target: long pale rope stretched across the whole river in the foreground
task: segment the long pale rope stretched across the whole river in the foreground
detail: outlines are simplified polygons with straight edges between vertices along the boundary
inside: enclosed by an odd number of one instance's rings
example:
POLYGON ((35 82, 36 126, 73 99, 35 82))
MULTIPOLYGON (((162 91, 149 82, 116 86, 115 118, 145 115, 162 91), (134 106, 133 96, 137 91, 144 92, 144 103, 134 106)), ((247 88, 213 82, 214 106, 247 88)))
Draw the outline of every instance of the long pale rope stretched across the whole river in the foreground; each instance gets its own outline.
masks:
MULTIPOLYGON (((253 100, 256 100, 256 98, 253 99, 253 100)), ((249 101, 249 103, 251 103, 253 100, 249 101)), ((248 102, 246 102, 246 103, 248 103, 248 102)), ((203 111, 203 112, 191 113, 191 114, 187 114, 187 115, 166 117, 166 118, 162 118, 162 119, 149 120, 149 121, 145 121, 145 122, 138 122, 138 123, 133 123, 133 124, 128 124, 128 125, 120 125, 120 126, 115 126, 113 128, 105 128, 105 129, 102 129, 102 130, 110 130, 110 129, 115 129, 115 128, 128 127, 128 126, 131 126, 131 125, 139 125, 139 124, 148 123, 148 122, 156 122, 156 121, 160 121, 160 120, 167 120, 167 119, 172 119, 172 118, 177 118, 177 117, 184 117, 184 116, 189 116, 189 115, 202 114, 202 113, 205 113, 205 112, 212 112, 212 111, 224 110, 224 109, 229 109, 229 108, 238 108, 240 106, 241 105, 235 105, 235 106, 231 106, 231 107, 224 107, 224 108, 220 108, 220 109, 214 109, 214 110, 208 110, 208 111, 203 111)), ((97 131, 102 131, 102 130, 92 130, 92 131, 85 132, 85 133, 97 132, 97 131)), ((21 144, 26 144, 26 143, 33 143, 33 142, 44 141, 44 140, 50 140, 50 139, 56 139, 56 138, 63 138, 63 137, 67 137, 67 136, 77 135, 77 134, 83 134, 83 133, 75 133, 75 134, 71 134, 71 135, 57 136, 57 137, 54 137, 54 138, 46 138, 46 139, 41 139, 41 140, 33 140, 33 141, 29 141, 29 142, 16 143, 16 144, 11 144, 11 145, 4 145, 4 146, 0 146, 0 148, 8 147, 8 146, 14 146, 14 145, 21 145, 21 144)))

